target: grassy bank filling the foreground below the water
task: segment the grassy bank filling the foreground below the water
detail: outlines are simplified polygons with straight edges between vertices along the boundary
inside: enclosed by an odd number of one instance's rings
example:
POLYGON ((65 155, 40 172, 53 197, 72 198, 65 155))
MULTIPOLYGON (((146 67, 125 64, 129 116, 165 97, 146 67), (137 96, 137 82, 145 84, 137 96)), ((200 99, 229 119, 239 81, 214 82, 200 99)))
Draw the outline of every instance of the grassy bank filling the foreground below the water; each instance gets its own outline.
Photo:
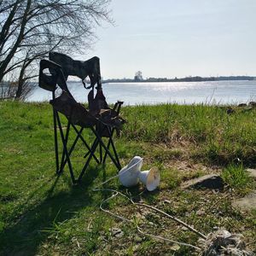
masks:
MULTIPOLYGON (((245 167, 256 166, 256 109, 236 108, 231 114, 226 110, 175 104, 122 108, 128 123, 116 140, 117 148, 122 166, 140 155, 144 170, 153 165, 160 168, 160 189, 153 193, 142 185, 129 189, 135 200, 182 218, 204 234, 220 226, 242 233, 256 250, 256 212, 231 207, 232 199, 256 188, 244 174, 245 167), (183 181, 211 172, 224 177, 223 192, 180 189, 183 181)), ((90 133, 86 137, 90 139, 90 133)), ((73 154, 75 170, 84 164, 82 144, 79 149, 73 154)), ((100 211, 100 203, 111 194, 91 189, 116 174, 109 162, 96 166, 91 161, 82 183, 73 186, 67 170, 55 176, 54 155, 48 103, 0 102, 0 254, 197 254, 189 247, 143 236, 134 224, 100 211), (113 228, 122 230, 121 235, 113 228)), ((107 187, 127 193, 118 180, 107 187)), ((148 222, 148 233, 197 242, 189 230, 123 199, 109 201, 105 207, 148 222)))

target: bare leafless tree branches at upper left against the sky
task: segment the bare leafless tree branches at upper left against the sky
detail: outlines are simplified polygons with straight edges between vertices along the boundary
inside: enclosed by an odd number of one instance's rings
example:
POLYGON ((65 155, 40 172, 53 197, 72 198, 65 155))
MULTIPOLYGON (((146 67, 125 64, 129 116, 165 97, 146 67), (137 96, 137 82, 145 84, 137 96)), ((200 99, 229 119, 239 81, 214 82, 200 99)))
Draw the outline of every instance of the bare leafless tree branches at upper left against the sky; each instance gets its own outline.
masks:
POLYGON ((35 77, 37 61, 58 50, 84 53, 95 41, 95 27, 109 18, 110 0, 0 0, 0 82, 15 70, 16 98, 35 77))

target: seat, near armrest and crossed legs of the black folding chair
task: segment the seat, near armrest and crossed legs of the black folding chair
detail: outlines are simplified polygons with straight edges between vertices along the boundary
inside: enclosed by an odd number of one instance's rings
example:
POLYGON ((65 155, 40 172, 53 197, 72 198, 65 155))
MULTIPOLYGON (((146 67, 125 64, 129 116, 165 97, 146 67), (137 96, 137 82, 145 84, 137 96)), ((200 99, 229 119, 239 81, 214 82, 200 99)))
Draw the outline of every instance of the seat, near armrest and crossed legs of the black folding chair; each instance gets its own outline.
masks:
POLYGON ((123 119, 119 119, 119 110, 123 102, 117 102, 113 109, 88 111, 83 105, 75 101, 71 92, 68 90, 61 66, 48 60, 40 61, 39 86, 44 90, 52 92, 50 104, 53 106, 56 173, 60 174, 63 172, 64 167, 67 165, 73 183, 77 183, 81 180, 84 172, 90 165, 90 160, 94 159, 97 164, 105 163, 107 156, 112 160, 118 170, 121 169, 119 156, 113 143, 113 131, 119 130, 119 125, 124 123, 123 119), (44 73, 45 69, 49 69, 50 74, 44 73), (62 93, 61 96, 56 97, 55 90, 57 85, 61 88, 62 93), (59 113, 64 114, 67 118, 66 134, 63 131, 59 113), (67 142, 69 141, 71 128, 75 131, 76 137, 72 146, 68 148, 67 142), (82 135, 84 129, 90 129, 95 136, 91 147, 82 135), (62 144, 61 156, 59 155, 58 130, 60 131, 62 144), (104 143, 102 137, 108 137, 107 145, 104 143), (79 173, 79 177, 75 178, 70 157, 79 139, 84 144, 87 152, 84 154, 85 163, 79 173), (110 147, 113 149, 113 154, 110 151, 110 147), (96 148, 99 148, 100 159, 96 157, 96 148))

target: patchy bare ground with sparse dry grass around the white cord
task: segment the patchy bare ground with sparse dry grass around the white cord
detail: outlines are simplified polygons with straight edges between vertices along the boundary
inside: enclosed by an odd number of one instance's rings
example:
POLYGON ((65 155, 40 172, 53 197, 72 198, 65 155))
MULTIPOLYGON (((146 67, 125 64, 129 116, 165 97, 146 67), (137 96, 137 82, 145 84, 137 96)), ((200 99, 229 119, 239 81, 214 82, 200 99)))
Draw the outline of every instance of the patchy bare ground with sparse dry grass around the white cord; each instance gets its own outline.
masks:
MULTIPOLYGON (((155 157, 161 154, 159 158, 164 172, 175 172, 177 175, 173 178, 177 180, 177 185, 175 187, 169 186, 169 181, 166 182, 162 179, 160 188, 156 191, 148 192, 140 185, 137 189, 131 189, 129 196, 134 201, 157 207, 183 220, 205 236, 220 228, 229 230, 232 234, 242 234, 248 249, 256 253, 255 212, 240 212, 239 209, 232 206, 231 202, 238 197, 233 189, 230 189, 229 186, 225 186, 222 190, 182 189, 180 186, 181 183, 195 177, 212 173, 220 174, 221 168, 219 166, 206 166, 199 162, 195 163, 189 158, 188 150, 184 149, 183 146, 175 148, 172 145, 170 149, 163 144, 154 145, 153 148, 151 154, 144 158, 145 164, 152 165, 155 157), (168 155, 170 152, 171 156, 168 155)), ((117 201, 116 206, 111 211, 134 221, 134 224, 131 224, 115 219, 113 229, 102 234, 100 237, 102 248, 105 252, 110 252, 111 255, 200 254, 200 251, 193 247, 154 239, 138 232, 137 224, 145 233, 150 235, 199 247, 199 236, 182 224, 160 214, 160 212, 132 205, 128 200, 123 199, 117 201)), ((96 255, 102 255, 102 251, 96 255)))

